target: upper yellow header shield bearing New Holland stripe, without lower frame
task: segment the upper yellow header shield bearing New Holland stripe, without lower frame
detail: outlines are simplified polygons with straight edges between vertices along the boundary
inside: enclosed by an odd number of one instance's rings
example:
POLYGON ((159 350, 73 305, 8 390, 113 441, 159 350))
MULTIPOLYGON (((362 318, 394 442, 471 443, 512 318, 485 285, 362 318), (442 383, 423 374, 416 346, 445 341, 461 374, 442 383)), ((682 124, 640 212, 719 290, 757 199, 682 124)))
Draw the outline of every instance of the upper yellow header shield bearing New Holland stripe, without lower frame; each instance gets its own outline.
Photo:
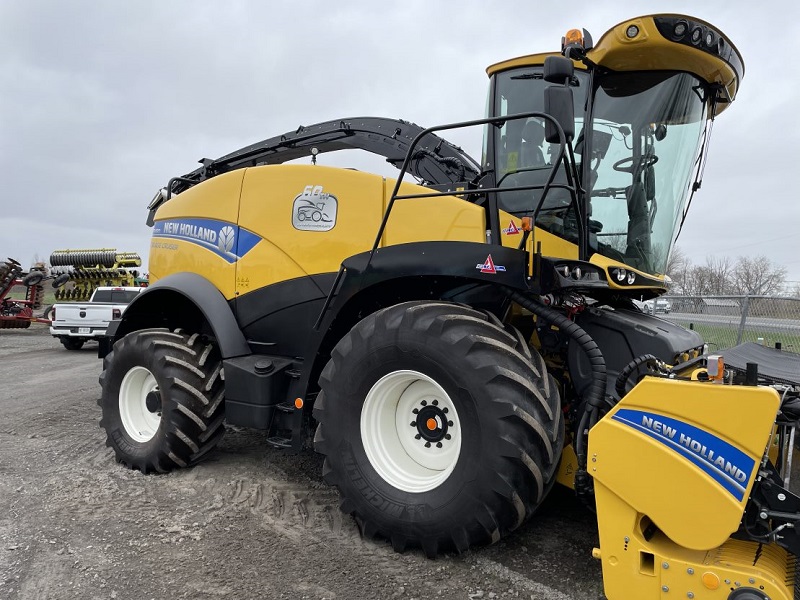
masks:
POLYGON ((646 378, 592 428, 589 472, 676 543, 714 548, 739 526, 778 404, 769 388, 646 378))

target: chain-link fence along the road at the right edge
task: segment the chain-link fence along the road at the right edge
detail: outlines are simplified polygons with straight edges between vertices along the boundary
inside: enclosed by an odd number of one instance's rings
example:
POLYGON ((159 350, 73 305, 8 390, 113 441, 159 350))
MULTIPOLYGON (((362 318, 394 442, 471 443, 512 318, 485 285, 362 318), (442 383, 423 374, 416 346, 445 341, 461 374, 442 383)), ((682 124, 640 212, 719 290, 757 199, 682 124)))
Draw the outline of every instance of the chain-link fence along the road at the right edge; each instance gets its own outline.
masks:
POLYGON ((800 353, 800 298, 661 296, 643 309, 697 330, 710 351, 758 342, 800 353))

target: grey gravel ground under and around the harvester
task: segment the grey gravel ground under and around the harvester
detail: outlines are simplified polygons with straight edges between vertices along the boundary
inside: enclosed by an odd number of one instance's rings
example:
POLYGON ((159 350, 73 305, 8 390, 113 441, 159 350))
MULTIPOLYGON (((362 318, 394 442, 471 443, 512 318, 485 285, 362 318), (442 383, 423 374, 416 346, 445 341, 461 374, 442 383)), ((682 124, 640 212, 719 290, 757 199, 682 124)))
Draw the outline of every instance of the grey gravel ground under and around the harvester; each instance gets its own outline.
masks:
POLYGON ((601 597, 594 515, 557 488, 507 540, 428 560, 363 540, 321 457, 228 428, 201 465, 142 475, 98 427, 96 344, 0 330, 0 598, 601 597))

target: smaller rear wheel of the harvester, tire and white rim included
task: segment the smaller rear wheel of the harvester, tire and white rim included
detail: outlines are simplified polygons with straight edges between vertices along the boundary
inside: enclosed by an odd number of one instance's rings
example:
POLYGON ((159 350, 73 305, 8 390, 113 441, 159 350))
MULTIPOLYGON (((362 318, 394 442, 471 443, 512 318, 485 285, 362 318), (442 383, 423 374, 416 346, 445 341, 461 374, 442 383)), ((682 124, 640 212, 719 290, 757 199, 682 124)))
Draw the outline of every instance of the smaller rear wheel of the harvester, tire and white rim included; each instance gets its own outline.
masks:
POLYGON ((126 335, 105 357, 100 386, 106 445, 131 469, 191 466, 224 434, 222 362, 198 334, 126 335))

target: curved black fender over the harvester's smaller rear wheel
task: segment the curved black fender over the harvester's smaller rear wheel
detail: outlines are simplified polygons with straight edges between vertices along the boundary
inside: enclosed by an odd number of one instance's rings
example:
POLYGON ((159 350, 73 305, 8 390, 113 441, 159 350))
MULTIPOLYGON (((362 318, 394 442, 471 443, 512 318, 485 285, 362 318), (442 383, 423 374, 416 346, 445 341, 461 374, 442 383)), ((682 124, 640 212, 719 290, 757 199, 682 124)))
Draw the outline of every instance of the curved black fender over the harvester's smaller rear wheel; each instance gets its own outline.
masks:
POLYGON ((213 335, 222 358, 252 354, 231 305, 216 286, 196 273, 175 273, 159 279, 128 305, 122 319, 112 321, 106 337, 113 344, 138 329, 182 327, 213 335))

